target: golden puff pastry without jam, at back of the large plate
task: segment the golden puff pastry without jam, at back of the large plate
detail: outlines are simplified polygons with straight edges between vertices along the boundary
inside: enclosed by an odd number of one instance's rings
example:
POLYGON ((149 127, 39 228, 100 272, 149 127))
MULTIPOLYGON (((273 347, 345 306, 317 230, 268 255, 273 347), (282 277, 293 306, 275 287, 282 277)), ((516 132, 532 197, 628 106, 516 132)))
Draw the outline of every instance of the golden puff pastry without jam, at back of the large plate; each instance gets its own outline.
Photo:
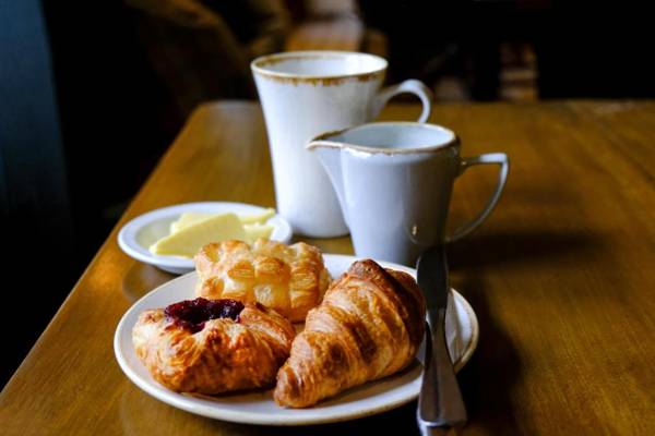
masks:
POLYGON ((319 249, 298 242, 287 246, 258 239, 203 246, 194 257, 200 276, 196 295, 259 302, 291 322, 303 322, 330 283, 319 249))

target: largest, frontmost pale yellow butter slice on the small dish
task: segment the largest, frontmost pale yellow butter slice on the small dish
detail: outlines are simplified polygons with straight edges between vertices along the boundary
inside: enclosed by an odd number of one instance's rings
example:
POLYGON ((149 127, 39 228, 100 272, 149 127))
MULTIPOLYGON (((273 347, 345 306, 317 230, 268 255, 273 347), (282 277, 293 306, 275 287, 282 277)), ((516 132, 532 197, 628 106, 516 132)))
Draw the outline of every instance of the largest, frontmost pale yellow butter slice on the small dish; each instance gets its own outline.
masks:
POLYGON ((156 255, 193 257, 210 242, 231 239, 245 241, 246 238, 243 226, 235 214, 214 215, 160 239, 150 251, 156 255))

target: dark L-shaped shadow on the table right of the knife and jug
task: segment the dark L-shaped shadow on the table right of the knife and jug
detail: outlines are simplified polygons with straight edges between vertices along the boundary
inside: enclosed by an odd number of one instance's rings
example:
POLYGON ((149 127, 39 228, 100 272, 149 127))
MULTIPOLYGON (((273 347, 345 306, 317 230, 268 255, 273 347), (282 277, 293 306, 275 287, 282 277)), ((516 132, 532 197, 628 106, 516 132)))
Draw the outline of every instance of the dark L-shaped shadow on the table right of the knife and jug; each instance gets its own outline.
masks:
MULTIPOLYGON (((567 268, 581 256, 608 250, 602 234, 588 231, 500 231, 473 234, 449 246, 452 286, 471 303, 480 326, 480 341, 471 362, 460 373, 469 412, 469 426, 488 434, 533 434, 523 404, 513 395, 525 362, 504 331, 486 277, 507 271, 523 274, 536 268, 567 268)), ((475 432, 474 432, 475 433, 475 432)))

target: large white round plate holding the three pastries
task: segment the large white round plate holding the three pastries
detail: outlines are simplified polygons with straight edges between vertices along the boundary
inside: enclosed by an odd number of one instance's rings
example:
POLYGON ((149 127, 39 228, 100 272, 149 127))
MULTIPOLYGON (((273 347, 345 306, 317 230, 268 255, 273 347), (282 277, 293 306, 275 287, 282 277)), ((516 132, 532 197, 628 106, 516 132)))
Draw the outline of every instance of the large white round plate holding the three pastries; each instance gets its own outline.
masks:
MULTIPOLYGON (((324 255, 325 266, 332 277, 344 272, 353 262, 353 256, 324 255)), ((380 262, 385 267, 402 269, 415 276, 416 270, 404 266, 380 262)), ((151 396, 175 408, 203 416, 245 424, 265 425, 308 425, 354 420, 381 413, 418 397, 420 390, 421 364, 415 361, 405 371, 393 376, 349 389, 337 397, 322 401, 309 409, 283 409, 273 401, 272 390, 260 392, 199 397, 174 392, 148 374, 132 347, 131 331, 139 314, 146 308, 163 307, 170 303, 194 298, 195 272, 171 280, 139 300, 123 315, 114 337, 114 351, 126 375, 151 396)), ((453 303, 449 311, 456 326, 449 327, 446 337, 456 329, 457 347, 451 348, 455 368, 460 370, 471 359, 478 340, 478 324, 471 305, 456 291, 452 290, 453 303), (450 330, 450 331, 449 331, 450 330)), ((452 341, 449 341, 452 342, 452 341)), ((419 355, 422 355, 419 352, 419 355)))

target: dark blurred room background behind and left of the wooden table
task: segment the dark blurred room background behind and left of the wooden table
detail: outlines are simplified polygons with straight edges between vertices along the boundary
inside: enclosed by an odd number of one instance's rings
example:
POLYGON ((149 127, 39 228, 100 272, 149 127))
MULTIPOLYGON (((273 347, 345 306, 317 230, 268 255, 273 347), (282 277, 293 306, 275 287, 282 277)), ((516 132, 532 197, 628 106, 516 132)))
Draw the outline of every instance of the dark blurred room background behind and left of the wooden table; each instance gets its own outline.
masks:
POLYGON ((314 48, 311 29, 294 39, 306 24, 362 23, 358 49, 390 59, 389 81, 440 101, 655 96, 635 3, 199 0, 179 19, 169 3, 0 0, 0 386, 192 108, 257 98, 248 61, 314 48))

